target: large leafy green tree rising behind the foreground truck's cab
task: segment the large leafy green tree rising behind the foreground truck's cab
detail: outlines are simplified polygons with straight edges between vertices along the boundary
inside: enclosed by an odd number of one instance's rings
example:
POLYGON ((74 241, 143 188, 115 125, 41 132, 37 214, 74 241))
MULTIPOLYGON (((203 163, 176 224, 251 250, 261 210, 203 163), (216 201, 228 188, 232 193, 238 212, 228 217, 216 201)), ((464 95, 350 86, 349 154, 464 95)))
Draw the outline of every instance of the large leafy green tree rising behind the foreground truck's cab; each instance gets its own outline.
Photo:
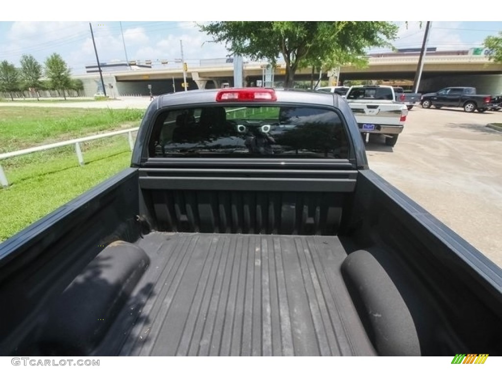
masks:
POLYGON ((365 64, 368 47, 390 46, 398 26, 390 22, 348 21, 222 21, 199 25, 215 42, 225 43, 232 54, 252 59, 286 62, 286 87, 292 87, 299 68, 332 68, 335 65, 365 64))

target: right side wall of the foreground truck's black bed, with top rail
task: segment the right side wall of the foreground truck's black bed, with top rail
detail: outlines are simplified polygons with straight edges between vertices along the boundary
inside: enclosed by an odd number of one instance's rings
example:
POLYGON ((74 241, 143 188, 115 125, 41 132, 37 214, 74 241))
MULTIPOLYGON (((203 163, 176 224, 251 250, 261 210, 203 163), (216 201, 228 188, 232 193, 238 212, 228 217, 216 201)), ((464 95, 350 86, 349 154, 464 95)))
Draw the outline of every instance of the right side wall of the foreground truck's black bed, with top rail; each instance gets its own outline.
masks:
POLYGON ((366 247, 393 254, 409 276, 413 297, 404 299, 410 308, 425 304, 417 324, 431 321, 422 341, 445 347, 424 349, 502 354, 502 278, 493 262, 370 170, 359 172, 348 227, 366 247))

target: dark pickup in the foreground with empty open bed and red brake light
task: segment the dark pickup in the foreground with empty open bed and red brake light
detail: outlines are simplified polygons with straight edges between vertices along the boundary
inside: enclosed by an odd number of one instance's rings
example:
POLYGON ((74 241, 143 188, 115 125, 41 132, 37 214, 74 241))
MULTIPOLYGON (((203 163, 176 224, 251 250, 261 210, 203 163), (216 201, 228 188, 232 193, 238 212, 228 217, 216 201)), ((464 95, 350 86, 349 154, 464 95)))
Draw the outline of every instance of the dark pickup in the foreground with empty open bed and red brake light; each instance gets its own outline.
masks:
POLYGON ((156 98, 130 168, 0 244, 0 302, 1 355, 502 355, 502 270, 316 92, 156 98))

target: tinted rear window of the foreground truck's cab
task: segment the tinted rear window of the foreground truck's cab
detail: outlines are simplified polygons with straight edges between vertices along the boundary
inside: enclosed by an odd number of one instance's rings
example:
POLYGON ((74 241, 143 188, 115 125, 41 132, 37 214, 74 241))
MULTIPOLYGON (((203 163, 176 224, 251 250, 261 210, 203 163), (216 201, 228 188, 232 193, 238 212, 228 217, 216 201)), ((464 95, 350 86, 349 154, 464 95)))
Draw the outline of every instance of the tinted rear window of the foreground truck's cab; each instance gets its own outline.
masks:
POLYGON ((150 157, 348 158, 338 114, 308 107, 200 107, 156 120, 150 157))

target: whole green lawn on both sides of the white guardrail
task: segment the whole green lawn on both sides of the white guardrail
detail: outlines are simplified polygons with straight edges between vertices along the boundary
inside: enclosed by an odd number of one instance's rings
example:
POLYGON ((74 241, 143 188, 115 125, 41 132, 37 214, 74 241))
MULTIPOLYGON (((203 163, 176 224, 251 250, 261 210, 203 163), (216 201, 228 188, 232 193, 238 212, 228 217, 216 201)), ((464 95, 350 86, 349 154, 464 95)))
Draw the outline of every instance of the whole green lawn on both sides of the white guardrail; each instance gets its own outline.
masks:
MULTIPOLYGON (((141 111, 0 108, 0 153, 139 124, 141 111), (8 109, 8 110, 6 110, 8 109)), ((129 166, 127 135, 0 160, 10 186, 0 189, 0 242, 129 166)))

